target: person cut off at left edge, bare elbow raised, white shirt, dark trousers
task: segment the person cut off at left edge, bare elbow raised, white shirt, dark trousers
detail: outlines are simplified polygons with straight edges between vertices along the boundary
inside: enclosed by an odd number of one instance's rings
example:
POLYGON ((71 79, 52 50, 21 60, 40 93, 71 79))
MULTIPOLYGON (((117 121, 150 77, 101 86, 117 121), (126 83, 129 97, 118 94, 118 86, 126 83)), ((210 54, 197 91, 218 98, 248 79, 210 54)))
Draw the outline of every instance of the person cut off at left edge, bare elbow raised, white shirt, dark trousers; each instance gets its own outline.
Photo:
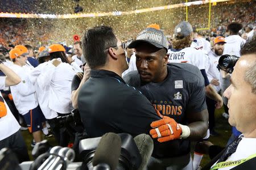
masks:
MULTIPOLYGON (((0 89, 8 86, 14 86, 21 82, 21 79, 13 70, 3 65, 0 61, 0 70, 6 76, 0 76, 0 89)), ((11 113, 8 105, 0 94, 0 150, 4 147, 9 147, 19 158, 19 162, 29 160, 27 146, 19 131, 19 123, 11 113)))

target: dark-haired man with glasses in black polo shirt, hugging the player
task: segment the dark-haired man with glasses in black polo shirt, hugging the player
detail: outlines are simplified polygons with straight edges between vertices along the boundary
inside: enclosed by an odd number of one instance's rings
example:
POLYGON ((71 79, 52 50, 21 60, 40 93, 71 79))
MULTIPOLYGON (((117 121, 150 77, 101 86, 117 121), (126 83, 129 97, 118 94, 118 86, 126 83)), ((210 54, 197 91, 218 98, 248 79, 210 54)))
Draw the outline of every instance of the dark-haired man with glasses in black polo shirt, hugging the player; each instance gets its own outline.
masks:
POLYGON ((89 137, 108 132, 149 134, 151 122, 160 117, 150 101, 121 78, 128 68, 125 47, 112 28, 89 29, 82 49, 91 71, 81 87, 78 108, 89 137))

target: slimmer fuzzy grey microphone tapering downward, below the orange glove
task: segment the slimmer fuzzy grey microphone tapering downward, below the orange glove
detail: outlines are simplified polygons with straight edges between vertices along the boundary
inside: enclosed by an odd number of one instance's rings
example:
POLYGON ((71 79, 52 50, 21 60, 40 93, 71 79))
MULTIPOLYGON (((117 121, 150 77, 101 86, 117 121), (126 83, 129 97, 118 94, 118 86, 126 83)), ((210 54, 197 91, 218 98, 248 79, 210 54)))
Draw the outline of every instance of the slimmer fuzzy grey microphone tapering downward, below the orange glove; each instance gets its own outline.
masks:
POLYGON ((140 134, 134 138, 134 141, 142 157, 142 162, 138 170, 146 169, 154 149, 153 140, 151 139, 150 135, 140 134))

